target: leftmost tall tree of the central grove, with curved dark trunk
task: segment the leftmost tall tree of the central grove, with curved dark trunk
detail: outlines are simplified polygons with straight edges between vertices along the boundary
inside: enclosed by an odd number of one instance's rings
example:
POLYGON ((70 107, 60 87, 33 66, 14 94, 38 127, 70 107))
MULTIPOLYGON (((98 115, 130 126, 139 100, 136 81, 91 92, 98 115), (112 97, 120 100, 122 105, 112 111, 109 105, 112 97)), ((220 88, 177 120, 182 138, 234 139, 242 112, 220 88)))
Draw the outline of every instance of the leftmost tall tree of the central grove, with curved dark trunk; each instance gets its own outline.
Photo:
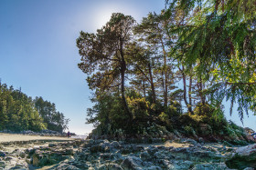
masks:
POLYGON ((80 49, 80 69, 88 76, 91 89, 105 90, 121 85, 123 107, 130 120, 124 83, 127 70, 125 48, 131 42, 134 19, 130 15, 112 14, 111 20, 97 34, 80 32, 77 46, 80 49))

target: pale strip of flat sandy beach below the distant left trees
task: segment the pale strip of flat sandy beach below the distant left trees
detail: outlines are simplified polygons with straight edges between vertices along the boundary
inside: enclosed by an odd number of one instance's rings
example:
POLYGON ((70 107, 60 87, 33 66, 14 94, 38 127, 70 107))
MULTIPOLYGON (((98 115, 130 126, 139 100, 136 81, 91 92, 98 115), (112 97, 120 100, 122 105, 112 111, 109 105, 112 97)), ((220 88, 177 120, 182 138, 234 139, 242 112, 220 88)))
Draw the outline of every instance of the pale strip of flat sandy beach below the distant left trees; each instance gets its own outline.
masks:
POLYGON ((67 137, 59 137, 59 136, 17 135, 17 134, 0 133, 0 143, 14 142, 14 141, 31 141, 31 140, 68 141, 68 140, 74 140, 74 139, 67 138, 67 137))

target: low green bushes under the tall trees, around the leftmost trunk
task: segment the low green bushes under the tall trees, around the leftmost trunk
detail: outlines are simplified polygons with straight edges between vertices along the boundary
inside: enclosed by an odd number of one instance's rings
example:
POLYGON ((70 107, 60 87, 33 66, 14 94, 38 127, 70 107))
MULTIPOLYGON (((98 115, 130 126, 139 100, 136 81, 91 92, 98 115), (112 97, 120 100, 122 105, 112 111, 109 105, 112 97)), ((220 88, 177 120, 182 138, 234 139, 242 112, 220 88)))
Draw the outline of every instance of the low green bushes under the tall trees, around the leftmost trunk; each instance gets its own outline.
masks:
MULTIPOLYGON (((168 129, 172 128, 170 117, 178 115, 175 107, 180 106, 178 103, 173 102, 173 105, 170 105, 169 112, 167 112, 168 115, 162 110, 155 117, 155 104, 150 104, 150 102, 146 101, 144 97, 134 90, 127 90, 126 92, 129 110, 133 114, 132 124, 127 124, 128 116, 125 114, 121 96, 118 93, 100 92, 96 92, 96 96, 91 99, 95 105, 88 109, 87 123, 93 124, 96 127, 99 126, 102 134, 107 132, 104 131, 104 128, 101 128, 106 125, 111 125, 112 131, 123 129, 126 132, 132 130, 133 132, 140 131, 143 133, 143 130, 140 130, 140 128, 147 126, 147 122, 154 122, 154 118, 166 125, 168 129)), ((162 106, 162 108, 164 107, 162 106)))

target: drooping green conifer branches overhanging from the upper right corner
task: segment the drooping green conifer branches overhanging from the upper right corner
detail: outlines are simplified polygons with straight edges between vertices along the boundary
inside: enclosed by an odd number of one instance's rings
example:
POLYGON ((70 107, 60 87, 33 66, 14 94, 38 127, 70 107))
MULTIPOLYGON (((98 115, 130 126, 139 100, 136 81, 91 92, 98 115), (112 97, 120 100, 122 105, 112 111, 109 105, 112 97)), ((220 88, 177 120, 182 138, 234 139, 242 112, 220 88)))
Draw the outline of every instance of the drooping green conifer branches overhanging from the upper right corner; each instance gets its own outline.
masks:
MULTIPOLYGON (((248 110, 255 111, 255 2, 229 1, 166 1, 169 11, 181 11, 182 25, 170 26, 177 36, 170 55, 186 67, 195 66, 203 82, 209 82, 211 103, 225 98, 238 103, 243 119, 248 110)), ((169 17, 171 15, 166 14, 169 17)), ((175 15, 178 15, 176 13, 175 15)), ((206 94, 205 94, 206 95, 206 94)))

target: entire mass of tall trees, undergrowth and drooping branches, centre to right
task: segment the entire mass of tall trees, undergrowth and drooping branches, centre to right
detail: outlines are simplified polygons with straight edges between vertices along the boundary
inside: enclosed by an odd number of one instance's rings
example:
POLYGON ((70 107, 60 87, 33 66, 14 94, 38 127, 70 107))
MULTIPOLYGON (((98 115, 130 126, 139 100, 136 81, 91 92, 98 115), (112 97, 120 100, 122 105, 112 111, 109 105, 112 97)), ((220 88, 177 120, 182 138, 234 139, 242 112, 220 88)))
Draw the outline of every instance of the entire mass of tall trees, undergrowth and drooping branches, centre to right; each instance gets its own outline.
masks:
POLYGON ((101 134, 120 128, 134 134, 156 123, 190 135, 202 133, 200 125, 208 135, 225 135, 233 128, 225 102, 230 114, 237 107, 241 120, 256 111, 255 1, 165 4, 139 24, 112 14, 96 34, 80 32, 79 67, 95 103, 87 123, 101 134))

